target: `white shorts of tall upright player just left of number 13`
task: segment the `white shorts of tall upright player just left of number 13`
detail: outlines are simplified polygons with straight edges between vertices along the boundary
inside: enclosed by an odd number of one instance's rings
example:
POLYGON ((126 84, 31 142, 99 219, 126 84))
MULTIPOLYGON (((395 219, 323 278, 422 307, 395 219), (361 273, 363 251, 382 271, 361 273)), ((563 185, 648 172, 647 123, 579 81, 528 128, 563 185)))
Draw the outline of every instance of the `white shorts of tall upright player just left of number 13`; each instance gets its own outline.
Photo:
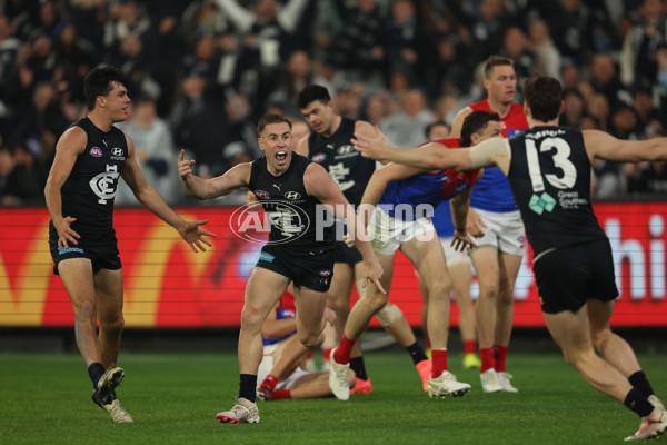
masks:
POLYGON ((491 246, 498 251, 522 257, 526 251, 526 229, 519 210, 506 214, 475 209, 486 225, 484 236, 472 238, 479 247, 491 246))

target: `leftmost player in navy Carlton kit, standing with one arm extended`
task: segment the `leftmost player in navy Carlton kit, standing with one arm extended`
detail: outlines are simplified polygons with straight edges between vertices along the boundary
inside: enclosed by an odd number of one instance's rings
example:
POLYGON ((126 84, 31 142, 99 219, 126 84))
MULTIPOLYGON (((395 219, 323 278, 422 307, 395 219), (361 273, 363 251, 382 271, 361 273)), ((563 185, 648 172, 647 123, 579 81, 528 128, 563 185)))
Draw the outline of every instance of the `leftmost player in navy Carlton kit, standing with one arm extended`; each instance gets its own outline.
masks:
POLYGON ((193 251, 206 250, 215 236, 207 221, 186 221, 143 178, 132 140, 113 123, 126 120, 130 98, 125 75, 96 68, 83 82, 88 117, 72 123, 56 146, 44 195, 51 215, 49 247, 53 273, 60 275, 74 309, 77 346, 93 385, 92 400, 113 422, 132 417, 116 396, 125 372, 116 367, 123 328, 122 271, 113 198, 118 179, 130 186, 145 207, 178 230, 193 251), (99 319, 99 335, 96 333, 99 319))

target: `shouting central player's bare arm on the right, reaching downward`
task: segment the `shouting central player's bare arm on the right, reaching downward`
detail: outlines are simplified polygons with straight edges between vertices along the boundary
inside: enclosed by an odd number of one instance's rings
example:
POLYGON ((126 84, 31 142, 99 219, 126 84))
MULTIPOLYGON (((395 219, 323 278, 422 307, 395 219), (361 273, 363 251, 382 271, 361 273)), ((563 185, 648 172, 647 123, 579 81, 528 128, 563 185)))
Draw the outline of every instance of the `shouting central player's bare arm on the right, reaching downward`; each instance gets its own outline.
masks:
POLYGON ((327 170, 318 164, 310 164, 303 175, 303 186, 308 195, 316 197, 323 205, 332 209, 337 218, 342 218, 348 227, 348 231, 354 234, 355 246, 364 257, 364 266, 367 281, 372 281, 382 294, 386 294, 380 278, 382 276, 382 267, 376 258, 366 227, 360 215, 355 214, 355 209, 348 200, 342 196, 338 185, 331 179, 327 170))

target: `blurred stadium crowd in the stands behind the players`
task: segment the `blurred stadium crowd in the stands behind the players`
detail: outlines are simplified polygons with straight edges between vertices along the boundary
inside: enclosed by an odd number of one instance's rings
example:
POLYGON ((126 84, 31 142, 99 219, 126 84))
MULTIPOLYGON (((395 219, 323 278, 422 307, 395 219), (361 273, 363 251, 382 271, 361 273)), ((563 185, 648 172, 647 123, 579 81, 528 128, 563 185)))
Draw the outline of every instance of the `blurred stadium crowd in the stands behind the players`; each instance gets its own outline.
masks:
MULTIPOLYGON (((534 72, 560 79, 564 126, 665 135, 663 0, 6 0, 0 206, 43 204, 56 140, 86 116, 82 80, 100 63, 129 78, 133 112, 119 127, 148 180, 178 204, 178 149, 202 177, 253 159, 259 117, 300 117, 307 85, 412 147, 426 126, 482 98, 490 55, 515 61, 519 88, 534 72)), ((667 191, 665 162, 594 169, 597 199, 667 191)), ((121 189, 117 202, 136 201, 121 189)))

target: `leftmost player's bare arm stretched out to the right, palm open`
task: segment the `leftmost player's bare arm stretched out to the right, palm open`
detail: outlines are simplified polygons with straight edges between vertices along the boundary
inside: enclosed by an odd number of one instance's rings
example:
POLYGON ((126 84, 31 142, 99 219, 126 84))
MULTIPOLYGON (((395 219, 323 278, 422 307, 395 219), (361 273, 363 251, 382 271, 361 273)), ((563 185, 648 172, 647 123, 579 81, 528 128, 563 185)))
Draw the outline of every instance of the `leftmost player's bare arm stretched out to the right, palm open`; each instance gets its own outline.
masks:
POLYGON ((127 136, 126 140, 128 141, 128 157, 126 158, 122 167, 121 176, 130 189, 132 189, 137 200, 139 200, 139 202, 141 202, 141 205, 147 209, 152 211, 158 218, 173 227, 180 237, 190 245, 190 249, 192 249, 192 251, 206 251, 206 247, 203 247, 203 245, 209 247, 212 245, 211 241, 205 237, 216 236, 216 234, 203 230, 200 227, 207 224, 208 219, 186 221, 183 218, 178 216, 178 214, 173 211, 173 209, 169 207, 167 202, 165 202, 165 199, 162 199, 157 190, 146 181, 141 169, 137 165, 132 140, 127 136))

